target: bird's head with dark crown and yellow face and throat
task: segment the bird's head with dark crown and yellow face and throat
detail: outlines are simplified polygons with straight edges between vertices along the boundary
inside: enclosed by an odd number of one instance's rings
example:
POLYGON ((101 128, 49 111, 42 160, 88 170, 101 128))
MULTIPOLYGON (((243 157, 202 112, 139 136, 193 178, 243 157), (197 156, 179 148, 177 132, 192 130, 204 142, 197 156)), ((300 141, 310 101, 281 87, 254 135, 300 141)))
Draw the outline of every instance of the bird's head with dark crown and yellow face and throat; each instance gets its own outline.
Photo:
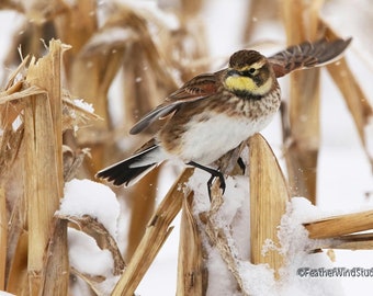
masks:
POLYGON ((239 96, 261 98, 273 89, 275 78, 267 58, 256 50, 230 56, 225 88, 239 96))

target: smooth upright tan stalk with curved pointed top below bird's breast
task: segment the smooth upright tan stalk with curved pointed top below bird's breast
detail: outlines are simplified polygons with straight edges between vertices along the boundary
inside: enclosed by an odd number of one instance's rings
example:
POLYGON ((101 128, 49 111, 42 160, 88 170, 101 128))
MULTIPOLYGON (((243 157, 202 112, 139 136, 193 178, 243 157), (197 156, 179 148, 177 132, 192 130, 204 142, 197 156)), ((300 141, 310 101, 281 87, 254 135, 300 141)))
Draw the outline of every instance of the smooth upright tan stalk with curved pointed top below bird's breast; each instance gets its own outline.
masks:
POLYGON ((260 134, 249 139, 250 147, 250 243, 251 262, 268 263, 274 271, 282 265, 281 254, 262 253, 265 241, 279 244, 278 227, 286 210, 287 185, 268 143, 260 134))

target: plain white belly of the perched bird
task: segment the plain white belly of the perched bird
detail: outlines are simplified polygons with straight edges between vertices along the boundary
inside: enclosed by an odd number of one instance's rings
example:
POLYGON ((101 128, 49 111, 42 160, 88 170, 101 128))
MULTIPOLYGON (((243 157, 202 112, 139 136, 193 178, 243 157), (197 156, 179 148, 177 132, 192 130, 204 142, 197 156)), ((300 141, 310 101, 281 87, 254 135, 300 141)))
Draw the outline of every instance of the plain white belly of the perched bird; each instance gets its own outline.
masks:
POLYGON ((272 116, 250 119, 214 113, 211 116, 203 114, 199 121, 199 115, 194 115, 181 137, 179 158, 185 162, 210 164, 264 128, 272 116))

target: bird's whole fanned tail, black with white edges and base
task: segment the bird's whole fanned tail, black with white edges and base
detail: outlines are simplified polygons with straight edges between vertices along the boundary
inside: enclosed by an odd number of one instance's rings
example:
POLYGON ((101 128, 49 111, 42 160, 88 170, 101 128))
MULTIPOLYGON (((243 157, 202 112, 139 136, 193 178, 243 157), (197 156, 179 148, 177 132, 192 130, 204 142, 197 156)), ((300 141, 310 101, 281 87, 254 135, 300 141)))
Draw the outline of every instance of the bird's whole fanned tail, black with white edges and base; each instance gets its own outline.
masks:
POLYGON ((114 185, 131 185, 156 167, 161 160, 161 149, 152 145, 131 158, 114 163, 101 171, 95 177, 113 182, 114 185))

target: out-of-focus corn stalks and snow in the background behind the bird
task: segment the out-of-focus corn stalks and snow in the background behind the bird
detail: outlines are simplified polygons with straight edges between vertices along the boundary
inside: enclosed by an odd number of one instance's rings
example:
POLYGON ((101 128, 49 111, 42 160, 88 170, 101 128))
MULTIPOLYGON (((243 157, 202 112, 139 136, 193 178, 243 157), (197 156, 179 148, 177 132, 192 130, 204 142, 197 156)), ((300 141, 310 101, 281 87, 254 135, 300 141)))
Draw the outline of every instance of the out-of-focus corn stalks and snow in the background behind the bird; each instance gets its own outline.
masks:
MULTIPOLYGON (((89 149, 70 178, 91 180, 150 137, 151 130, 128 135, 142 115, 193 76, 225 67, 234 52, 253 48, 271 55, 325 35, 352 36, 342 66, 280 80, 287 112, 279 113, 262 135, 289 179, 292 196, 307 197, 332 213, 372 206, 370 0, 2 0, 0 23, 2 88, 21 57, 42 57, 49 39, 71 46, 64 55, 63 87, 91 104, 101 118, 66 130, 64 144, 74 156, 89 149)), ((20 168, 12 170, 5 178, 14 187, 20 168)), ((166 163, 134 187, 113 189, 123 208, 118 244, 125 261, 180 170, 166 163)), ((19 191, 7 198, 16 198, 19 191)), ((173 295, 177 241, 176 229, 142 282, 140 295, 160 285, 157 295, 173 295)), ((341 265, 373 266, 363 251, 336 253, 341 265)), ((361 289, 364 284, 342 280, 346 295, 357 289, 369 295, 361 289)))

